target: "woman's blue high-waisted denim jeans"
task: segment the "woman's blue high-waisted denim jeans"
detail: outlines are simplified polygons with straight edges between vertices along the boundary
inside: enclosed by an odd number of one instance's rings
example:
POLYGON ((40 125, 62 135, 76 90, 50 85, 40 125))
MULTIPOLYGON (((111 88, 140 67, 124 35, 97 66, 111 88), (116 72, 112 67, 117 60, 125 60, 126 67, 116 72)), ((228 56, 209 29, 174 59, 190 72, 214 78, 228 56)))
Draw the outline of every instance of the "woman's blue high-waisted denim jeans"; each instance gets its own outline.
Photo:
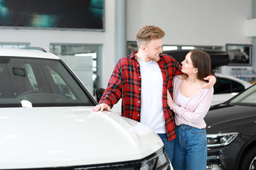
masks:
POLYGON ((174 142, 174 170, 206 170, 207 137, 206 129, 189 125, 176 126, 174 142))

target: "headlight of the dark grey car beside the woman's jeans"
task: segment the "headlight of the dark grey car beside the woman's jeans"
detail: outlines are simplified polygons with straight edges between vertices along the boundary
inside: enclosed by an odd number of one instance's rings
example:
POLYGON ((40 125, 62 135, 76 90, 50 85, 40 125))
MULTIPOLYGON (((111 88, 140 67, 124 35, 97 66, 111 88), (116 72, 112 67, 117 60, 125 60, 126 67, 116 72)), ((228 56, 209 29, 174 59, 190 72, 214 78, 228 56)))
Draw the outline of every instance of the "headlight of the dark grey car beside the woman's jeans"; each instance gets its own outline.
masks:
POLYGON ((225 147, 236 137, 238 137, 238 132, 209 134, 207 135, 207 147, 225 147))

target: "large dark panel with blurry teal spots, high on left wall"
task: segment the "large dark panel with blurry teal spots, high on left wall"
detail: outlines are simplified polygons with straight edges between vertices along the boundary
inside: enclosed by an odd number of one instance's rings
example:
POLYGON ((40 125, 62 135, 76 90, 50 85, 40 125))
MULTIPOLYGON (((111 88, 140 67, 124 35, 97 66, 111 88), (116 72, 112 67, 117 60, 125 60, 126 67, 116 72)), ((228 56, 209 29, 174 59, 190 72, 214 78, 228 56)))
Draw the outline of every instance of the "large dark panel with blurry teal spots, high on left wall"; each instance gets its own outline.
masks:
POLYGON ((0 28, 104 30, 104 0, 1 0, 0 28))

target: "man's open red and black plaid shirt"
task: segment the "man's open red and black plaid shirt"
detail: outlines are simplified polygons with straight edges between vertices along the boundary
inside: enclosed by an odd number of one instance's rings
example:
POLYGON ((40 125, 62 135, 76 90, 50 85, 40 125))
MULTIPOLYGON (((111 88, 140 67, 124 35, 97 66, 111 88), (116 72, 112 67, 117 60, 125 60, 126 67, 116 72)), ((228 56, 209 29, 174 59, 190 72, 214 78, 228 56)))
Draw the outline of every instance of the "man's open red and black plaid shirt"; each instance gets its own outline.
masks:
MULTIPOLYGON (((112 108, 122 98, 122 116, 140 121, 142 79, 136 53, 132 52, 131 55, 119 60, 99 103, 106 103, 112 108)), ((163 75, 163 110, 166 135, 170 141, 174 140, 176 135, 174 132, 174 115, 167 105, 166 89, 170 91, 172 96, 172 80, 175 75, 182 74, 181 65, 173 57, 165 54, 161 54, 158 64, 163 75)))

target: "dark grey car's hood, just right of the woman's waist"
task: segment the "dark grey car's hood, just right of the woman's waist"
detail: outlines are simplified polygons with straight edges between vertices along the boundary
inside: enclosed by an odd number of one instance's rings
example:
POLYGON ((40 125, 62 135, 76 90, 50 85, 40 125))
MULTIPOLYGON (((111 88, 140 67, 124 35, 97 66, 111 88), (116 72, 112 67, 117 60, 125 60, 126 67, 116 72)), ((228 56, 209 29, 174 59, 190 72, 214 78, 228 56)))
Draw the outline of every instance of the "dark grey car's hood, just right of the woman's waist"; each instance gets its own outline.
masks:
POLYGON ((206 130, 208 133, 225 132, 233 125, 255 121, 255 113, 255 106, 230 106, 225 104, 213 106, 204 118, 207 126, 206 130))

